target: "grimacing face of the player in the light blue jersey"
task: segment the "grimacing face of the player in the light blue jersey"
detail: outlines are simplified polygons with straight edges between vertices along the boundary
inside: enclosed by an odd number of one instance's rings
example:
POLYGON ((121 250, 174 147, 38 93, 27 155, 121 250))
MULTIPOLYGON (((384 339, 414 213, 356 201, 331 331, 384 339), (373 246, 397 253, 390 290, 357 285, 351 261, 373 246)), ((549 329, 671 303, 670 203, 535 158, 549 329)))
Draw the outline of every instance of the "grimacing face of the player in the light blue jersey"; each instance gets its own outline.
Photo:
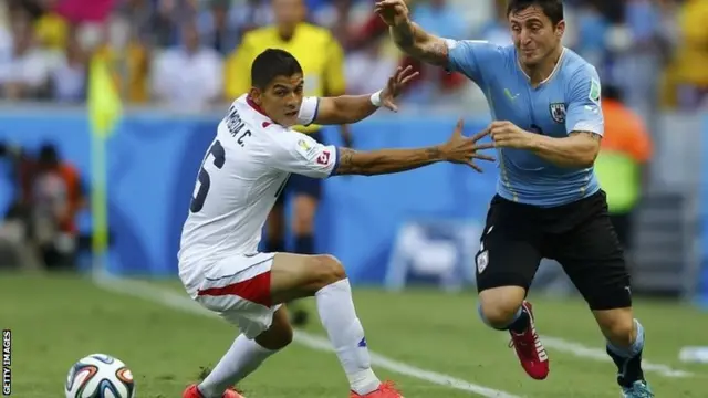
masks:
POLYGON ((520 61, 529 66, 539 64, 556 50, 565 30, 564 21, 553 24, 537 6, 511 12, 509 24, 520 61))

